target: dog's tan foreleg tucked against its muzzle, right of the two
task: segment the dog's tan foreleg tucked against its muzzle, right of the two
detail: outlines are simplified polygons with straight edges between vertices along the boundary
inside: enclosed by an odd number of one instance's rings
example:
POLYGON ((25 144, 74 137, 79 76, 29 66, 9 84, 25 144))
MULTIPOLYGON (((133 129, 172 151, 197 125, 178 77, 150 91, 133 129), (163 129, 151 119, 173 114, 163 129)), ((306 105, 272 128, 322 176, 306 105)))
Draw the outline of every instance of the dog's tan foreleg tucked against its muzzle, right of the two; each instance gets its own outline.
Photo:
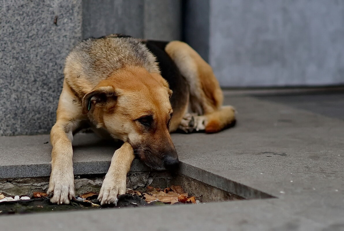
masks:
POLYGON ((100 188, 98 200, 101 205, 116 203, 117 196, 126 193, 127 173, 134 158, 133 148, 128 142, 116 150, 100 188))

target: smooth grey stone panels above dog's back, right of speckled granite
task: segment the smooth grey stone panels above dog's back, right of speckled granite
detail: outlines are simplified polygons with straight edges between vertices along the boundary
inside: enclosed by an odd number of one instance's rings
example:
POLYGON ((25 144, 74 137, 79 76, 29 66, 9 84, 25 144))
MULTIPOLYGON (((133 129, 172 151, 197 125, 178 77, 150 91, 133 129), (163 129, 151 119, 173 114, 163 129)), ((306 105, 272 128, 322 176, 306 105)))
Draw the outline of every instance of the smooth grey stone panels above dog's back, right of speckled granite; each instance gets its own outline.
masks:
POLYGON ((83 1, 83 38, 122 33, 155 40, 179 40, 180 0, 83 1))

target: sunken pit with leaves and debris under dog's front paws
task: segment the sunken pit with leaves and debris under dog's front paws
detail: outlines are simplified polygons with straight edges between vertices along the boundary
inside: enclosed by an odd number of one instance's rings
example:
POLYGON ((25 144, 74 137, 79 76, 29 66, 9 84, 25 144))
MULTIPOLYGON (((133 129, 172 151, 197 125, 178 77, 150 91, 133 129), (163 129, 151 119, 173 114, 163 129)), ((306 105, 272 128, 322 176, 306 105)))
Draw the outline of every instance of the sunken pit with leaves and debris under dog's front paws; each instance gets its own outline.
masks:
POLYGON ((255 192, 252 198, 251 192, 247 194, 246 189, 239 186, 235 187, 239 187, 243 195, 236 195, 181 174, 172 176, 168 172, 129 172, 126 194, 118 197, 116 205, 100 205, 97 198, 104 176, 105 174, 75 176, 76 197, 69 205, 56 205, 50 202, 49 196, 45 194, 49 186, 49 177, 0 179, 0 216, 273 198, 264 192, 255 192), (248 195, 247 198, 244 197, 245 193, 248 195))

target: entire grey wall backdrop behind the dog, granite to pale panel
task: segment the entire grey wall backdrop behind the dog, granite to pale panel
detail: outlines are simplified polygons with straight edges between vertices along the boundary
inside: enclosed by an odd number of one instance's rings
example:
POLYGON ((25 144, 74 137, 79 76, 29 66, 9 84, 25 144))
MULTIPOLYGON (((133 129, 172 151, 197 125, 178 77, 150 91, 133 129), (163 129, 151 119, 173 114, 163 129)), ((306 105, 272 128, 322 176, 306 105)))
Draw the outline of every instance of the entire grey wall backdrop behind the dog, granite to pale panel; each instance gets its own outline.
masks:
POLYGON ((0 3, 0 135, 49 133, 68 51, 110 33, 186 41, 222 87, 344 84, 342 0, 0 3))

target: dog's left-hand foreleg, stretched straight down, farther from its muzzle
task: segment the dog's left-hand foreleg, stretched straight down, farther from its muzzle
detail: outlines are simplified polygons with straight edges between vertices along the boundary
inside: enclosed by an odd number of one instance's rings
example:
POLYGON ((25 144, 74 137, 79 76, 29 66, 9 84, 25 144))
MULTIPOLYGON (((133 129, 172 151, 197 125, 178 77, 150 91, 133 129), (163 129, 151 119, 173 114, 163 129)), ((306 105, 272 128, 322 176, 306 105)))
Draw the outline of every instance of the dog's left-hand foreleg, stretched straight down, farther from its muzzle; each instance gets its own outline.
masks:
POLYGON ((51 152, 51 174, 47 194, 50 201, 57 204, 68 204, 74 197, 73 175, 73 131, 80 124, 81 107, 73 102, 75 95, 66 83, 58 102, 56 123, 51 129, 50 141, 53 145, 51 152))

